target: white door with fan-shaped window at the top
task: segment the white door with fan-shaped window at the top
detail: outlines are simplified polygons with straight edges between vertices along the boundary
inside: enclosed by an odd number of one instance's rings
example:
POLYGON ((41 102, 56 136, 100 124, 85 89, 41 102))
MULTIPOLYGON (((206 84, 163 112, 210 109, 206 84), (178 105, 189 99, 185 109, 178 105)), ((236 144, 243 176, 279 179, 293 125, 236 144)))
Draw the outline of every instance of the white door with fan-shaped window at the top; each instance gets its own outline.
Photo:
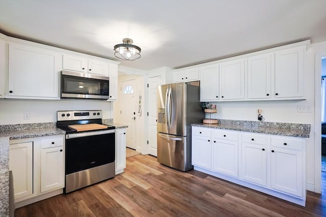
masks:
POLYGON ((121 81, 120 113, 122 124, 127 125, 126 146, 136 149, 136 118, 137 118, 137 81, 136 79, 121 81))

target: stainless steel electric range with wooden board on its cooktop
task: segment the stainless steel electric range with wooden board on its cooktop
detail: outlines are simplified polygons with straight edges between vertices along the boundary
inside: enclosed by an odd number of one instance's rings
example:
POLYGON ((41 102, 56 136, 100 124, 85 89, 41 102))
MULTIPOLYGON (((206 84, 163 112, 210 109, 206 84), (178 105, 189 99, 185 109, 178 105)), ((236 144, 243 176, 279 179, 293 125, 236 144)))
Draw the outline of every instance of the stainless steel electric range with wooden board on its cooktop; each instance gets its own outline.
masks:
POLYGON ((57 127, 66 131, 64 192, 114 177, 115 127, 102 124, 102 111, 58 111, 57 116, 57 127))

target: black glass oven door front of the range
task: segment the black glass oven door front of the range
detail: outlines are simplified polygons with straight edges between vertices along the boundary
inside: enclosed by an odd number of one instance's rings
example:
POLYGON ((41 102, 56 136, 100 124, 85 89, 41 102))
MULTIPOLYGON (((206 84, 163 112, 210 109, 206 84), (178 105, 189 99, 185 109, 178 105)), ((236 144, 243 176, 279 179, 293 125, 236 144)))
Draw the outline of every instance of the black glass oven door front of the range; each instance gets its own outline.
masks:
POLYGON ((66 175, 115 162, 115 133, 66 139, 66 175))

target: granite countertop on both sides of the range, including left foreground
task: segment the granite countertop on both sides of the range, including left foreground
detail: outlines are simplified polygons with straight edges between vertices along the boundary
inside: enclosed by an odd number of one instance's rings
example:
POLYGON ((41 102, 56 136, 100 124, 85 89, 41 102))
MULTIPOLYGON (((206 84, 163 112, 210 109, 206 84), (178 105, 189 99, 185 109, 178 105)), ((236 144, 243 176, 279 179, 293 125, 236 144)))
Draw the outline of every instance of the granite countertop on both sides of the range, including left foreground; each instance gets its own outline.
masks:
MULTIPOLYGON (((116 129, 128 126, 103 119, 104 125, 116 129)), ((9 216, 9 140, 66 134, 56 127, 56 122, 0 125, 0 216, 9 216)))

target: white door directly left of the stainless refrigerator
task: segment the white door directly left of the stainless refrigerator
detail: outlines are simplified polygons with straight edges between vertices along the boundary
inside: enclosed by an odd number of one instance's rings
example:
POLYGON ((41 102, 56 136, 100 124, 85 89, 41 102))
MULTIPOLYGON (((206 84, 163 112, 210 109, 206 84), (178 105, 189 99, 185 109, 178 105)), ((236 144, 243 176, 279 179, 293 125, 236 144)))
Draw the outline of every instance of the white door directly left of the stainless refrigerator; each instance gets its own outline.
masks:
POLYGON ((148 78, 148 153, 157 157, 157 86, 161 76, 148 78))

